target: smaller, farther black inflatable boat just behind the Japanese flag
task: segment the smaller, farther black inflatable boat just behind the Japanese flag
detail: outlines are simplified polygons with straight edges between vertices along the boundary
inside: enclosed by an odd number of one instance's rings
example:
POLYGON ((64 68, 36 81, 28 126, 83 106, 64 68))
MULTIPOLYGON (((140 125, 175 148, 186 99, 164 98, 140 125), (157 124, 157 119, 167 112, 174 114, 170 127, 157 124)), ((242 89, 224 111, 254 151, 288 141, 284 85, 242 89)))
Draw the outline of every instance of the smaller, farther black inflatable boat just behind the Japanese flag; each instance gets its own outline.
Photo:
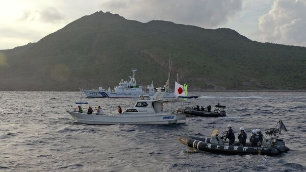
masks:
POLYGON ((204 117, 219 117, 219 116, 226 116, 226 113, 224 111, 224 108, 226 106, 220 106, 216 105, 215 110, 213 112, 209 111, 201 111, 201 110, 196 110, 195 107, 186 107, 184 109, 184 113, 190 114, 190 115, 195 115, 195 116, 204 116, 204 117))

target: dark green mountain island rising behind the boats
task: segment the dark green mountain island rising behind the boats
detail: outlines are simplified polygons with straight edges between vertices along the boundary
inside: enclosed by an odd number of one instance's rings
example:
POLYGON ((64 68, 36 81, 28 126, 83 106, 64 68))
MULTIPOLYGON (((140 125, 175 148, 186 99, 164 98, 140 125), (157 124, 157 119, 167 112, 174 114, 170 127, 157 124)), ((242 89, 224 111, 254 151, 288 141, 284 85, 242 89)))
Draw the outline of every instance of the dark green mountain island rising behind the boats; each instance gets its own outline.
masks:
MULTIPOLYGON (((78 90, 115 86, 137 68, 139 85, 163 86, 169 54, 190 90, 305 89, 306 48, 249 40, 231 29, 203 29, 118 14, 81 17, 36 43, 0 51, 0 90, 78 90)), ((172 84, 172 85, 171 85, 172 84)))

